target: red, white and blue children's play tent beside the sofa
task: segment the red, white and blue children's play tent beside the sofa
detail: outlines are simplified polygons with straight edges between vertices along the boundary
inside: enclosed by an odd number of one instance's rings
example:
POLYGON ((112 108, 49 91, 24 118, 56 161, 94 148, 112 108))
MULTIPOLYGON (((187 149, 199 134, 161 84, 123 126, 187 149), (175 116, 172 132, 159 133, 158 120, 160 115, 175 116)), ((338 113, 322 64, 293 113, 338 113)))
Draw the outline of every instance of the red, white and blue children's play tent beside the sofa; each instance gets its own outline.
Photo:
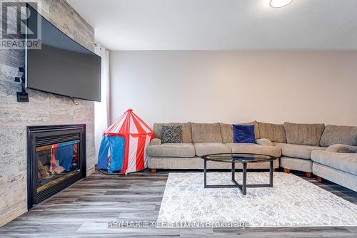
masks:
POLYGON ((119 171, 125 174, 144 170, 148 167, 146 147, 152 138, 153 130, 132 109, 127 110, 104 131, 98 168, 109 173, 119 171))

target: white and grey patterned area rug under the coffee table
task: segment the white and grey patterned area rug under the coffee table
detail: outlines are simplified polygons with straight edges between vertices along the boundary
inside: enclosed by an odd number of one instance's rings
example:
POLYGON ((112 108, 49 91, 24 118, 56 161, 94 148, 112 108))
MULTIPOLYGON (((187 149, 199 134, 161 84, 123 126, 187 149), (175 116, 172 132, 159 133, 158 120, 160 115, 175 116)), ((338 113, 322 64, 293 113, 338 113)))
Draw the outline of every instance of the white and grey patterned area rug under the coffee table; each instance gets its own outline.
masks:
MULTIPOLYGON (((236 181, 241 181, 241 172, 236 181)), ((158 224, 221 224, 246 222, 248 227, 356 226, 357 205, 301 177, 274 172, 273 187, 204 188, 203 173, 170 173, 158 224)), ((248 184, 268 183, 268 172, 248 172, 248 184)), ((209 184, 231 183, 229 172, 208 172, 209 184)), ((175 224, 175 225, 174 225, 175 224)))

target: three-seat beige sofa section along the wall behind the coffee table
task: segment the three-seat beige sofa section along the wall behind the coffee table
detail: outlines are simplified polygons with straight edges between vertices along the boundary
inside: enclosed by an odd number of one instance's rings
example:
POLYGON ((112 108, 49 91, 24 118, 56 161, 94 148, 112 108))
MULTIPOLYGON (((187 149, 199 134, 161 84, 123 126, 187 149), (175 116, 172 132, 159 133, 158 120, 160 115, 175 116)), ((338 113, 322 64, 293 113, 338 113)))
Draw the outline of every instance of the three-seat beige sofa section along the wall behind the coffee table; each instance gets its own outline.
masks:
MULTIPOLYGON (((254 124, 254 123, 253 123, 254 124)), ((257 144, 233 143, 232 125, 223 123, 154 123, 155 139, 151 141, 146 153, 149 155, 151 169, 203 169, 203 160, 200 156, 224 153, 245 152, 261 153, 281 156, 281 150, 272 145, 269 140, 257 138, 257 144), (161 143, 162 125, 181 125, 182 143, 161 143)), ((230 169, 231 165, 222 162, 209 161, 208 169, 230 169)), ((278 160, 274 161, 274 168, 278 168, 278 160)), ((236 168, 241 168, 236 164, 236 168)), ((268 162, 251 163, 250 169, 268 169, 268 162)))

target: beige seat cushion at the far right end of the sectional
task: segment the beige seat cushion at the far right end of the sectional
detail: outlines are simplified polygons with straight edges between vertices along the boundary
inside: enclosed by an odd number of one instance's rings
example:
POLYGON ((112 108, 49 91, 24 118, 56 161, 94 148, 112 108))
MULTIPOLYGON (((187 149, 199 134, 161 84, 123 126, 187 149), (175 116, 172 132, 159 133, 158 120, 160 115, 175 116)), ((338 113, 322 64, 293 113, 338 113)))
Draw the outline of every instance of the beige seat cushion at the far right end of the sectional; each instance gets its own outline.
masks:
POLYGON ((311 160, 337 170, 357 175, 357 154, 313 151, 311 153, 311 160))

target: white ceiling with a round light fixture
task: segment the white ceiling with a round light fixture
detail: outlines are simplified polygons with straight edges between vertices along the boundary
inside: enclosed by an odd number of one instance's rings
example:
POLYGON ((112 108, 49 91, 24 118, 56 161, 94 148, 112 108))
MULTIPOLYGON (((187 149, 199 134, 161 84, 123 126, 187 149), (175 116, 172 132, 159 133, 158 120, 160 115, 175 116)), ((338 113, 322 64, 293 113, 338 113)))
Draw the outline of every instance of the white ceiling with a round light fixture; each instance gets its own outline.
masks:
POLYGON ((357 0, 67 0, 111 50, 357 49, 357 0))

